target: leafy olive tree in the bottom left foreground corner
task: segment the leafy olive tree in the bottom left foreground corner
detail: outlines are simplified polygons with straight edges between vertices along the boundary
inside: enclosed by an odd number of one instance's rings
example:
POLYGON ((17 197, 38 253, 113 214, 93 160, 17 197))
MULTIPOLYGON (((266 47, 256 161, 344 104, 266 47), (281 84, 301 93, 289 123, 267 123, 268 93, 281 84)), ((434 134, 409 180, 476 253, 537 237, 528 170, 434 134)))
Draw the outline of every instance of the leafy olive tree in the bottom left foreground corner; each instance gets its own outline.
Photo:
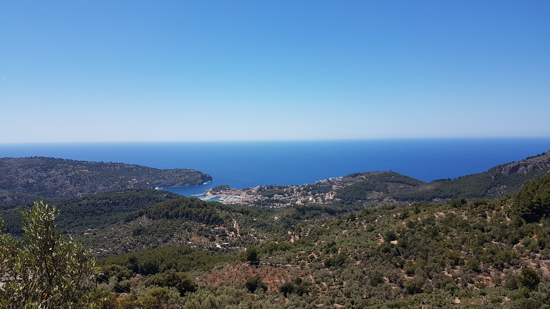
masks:
POLYGON ((94 308, 87 302, 95 259, 55 230, 57 207, 44 200, 21 210, 21 240, 6 233, 0 218, 0 307, 94 308))

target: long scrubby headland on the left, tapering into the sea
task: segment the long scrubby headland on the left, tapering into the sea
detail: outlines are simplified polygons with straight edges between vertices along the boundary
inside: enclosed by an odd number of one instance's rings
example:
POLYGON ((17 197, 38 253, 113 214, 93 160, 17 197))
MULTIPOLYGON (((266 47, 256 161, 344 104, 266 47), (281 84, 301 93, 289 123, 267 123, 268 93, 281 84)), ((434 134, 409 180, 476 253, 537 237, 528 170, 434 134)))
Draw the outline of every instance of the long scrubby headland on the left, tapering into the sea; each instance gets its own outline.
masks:
POLYGON ((29 157, 0 159, 0 203, 82 196, 131 188, 197 185, 212 177, 194 169, 29 157))

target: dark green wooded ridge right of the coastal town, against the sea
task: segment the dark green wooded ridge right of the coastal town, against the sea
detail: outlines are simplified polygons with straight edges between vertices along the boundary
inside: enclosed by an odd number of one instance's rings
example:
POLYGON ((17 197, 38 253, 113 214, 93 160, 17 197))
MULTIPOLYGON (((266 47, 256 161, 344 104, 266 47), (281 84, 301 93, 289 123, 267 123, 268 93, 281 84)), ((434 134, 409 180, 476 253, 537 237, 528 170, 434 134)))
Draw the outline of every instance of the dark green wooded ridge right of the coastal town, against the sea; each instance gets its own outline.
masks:
POLYGON ((515 194, 529 179, 540 178, 550 172, 550 151, 518 162, 497 165, 487 172, 460 176, 456 179, 438 179, 431 183, 394 172, 356 173, 364 175, 360 183, 337 190, 335 197, 343 203, 377 201, 384 198, 395 202, 433 202, 451 198, 494 198, 515 194))

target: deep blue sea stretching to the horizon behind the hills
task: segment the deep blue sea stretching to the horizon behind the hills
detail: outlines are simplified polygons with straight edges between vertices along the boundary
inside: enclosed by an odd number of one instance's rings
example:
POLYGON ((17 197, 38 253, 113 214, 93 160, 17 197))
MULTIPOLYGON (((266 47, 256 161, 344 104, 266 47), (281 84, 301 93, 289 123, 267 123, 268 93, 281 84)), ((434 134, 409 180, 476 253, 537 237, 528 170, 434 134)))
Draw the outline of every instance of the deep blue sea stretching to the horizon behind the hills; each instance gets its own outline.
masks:
POLYGON ((206 185, 164 188, 189 196, 227 184, 301 185, 335 176, 393 170, 424 181, 483 172, 550 150, 550 137, 373 139, 269 142, 102 142, 0 144, 0 157, 45 156, 193 168, 206 185))

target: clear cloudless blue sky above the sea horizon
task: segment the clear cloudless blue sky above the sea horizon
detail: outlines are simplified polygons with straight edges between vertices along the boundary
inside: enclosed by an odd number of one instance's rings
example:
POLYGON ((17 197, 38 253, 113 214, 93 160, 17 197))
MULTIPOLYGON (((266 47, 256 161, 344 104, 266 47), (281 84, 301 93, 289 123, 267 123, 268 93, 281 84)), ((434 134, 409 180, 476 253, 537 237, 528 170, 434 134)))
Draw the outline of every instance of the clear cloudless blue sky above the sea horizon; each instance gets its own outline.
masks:
POLYGON ((548 1, 0 1, 0 142, 550 136, 548 1))

